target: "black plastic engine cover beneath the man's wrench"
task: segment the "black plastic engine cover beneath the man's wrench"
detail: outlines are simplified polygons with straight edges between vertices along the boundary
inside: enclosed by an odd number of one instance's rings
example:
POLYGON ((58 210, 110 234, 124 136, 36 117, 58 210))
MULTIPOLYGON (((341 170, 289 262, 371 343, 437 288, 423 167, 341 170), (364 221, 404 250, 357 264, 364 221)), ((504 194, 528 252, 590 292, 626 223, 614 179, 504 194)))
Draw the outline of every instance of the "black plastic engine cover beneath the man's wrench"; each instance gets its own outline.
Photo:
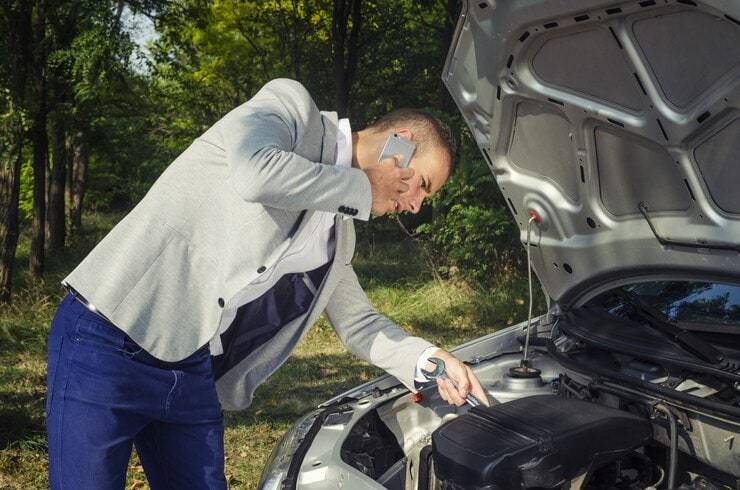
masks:
POLYGON ((442 488, 555 488, 644 445, 648 420, 543 395, 476 407, 432 434, 442 488))

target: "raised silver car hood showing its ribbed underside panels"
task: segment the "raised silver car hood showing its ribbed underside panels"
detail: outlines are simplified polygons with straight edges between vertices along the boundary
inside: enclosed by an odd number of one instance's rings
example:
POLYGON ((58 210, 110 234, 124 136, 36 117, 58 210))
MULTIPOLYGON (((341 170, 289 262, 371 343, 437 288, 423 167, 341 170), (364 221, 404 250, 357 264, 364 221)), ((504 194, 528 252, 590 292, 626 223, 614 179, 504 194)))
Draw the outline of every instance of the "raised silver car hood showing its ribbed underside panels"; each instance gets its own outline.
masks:
POLYGON ((740 278, 740 2, 468 0, 443 80, 556 302, 740 278))

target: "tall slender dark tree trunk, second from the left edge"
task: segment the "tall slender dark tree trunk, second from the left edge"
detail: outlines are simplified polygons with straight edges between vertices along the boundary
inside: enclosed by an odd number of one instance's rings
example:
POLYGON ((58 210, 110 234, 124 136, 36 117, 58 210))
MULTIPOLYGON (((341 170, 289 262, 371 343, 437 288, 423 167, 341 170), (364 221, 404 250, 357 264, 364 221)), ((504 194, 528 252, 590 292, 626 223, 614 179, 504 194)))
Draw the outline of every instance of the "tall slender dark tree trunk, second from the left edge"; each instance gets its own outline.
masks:
POLYGON ((36 51, 33 81, 33 224, 31 226, 31 251, 28 266, 33 277, 44 272, 44 234, 46 232, 46 165, 49 141, 46 133, 46 10, 45 1, 36 4, 34 46, 36 51))

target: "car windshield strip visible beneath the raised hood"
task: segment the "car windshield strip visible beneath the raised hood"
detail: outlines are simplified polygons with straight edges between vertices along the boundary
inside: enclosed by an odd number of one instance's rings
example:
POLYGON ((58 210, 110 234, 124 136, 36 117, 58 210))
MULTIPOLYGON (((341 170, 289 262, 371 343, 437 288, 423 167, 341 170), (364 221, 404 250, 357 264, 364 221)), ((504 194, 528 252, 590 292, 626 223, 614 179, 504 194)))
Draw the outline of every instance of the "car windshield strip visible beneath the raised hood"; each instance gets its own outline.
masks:
MULTIPOLYGON (((655 281, 622 286, 595 299, 615 313, 619 292, 638 296, 679 324, 740 326, 740 286, 716 282, 655 281)), ((593 304, 593 302, 592 302, 593 304)))

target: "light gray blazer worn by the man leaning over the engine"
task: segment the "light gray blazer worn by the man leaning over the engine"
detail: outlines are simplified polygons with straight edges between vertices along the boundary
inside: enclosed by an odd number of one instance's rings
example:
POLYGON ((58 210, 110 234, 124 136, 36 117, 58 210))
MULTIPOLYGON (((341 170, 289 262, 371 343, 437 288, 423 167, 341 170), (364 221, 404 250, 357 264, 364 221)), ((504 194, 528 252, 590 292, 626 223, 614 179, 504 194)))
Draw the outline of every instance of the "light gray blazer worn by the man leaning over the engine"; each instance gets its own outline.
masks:
POLYGON ((221 404, 246 408, 322 311, 353 353, 412 387, 431 344, 378 314, 360 287, 350 217, 368 219, 370 184, 334 166, 336 137, 336 113, 320 112, 300 83, 269 82, 172 162, 64 281, 149 353, 177 361, 281 257, 309 221, 303 210, 337 213, 334 260, 311 308, 219 378, 221 404))

